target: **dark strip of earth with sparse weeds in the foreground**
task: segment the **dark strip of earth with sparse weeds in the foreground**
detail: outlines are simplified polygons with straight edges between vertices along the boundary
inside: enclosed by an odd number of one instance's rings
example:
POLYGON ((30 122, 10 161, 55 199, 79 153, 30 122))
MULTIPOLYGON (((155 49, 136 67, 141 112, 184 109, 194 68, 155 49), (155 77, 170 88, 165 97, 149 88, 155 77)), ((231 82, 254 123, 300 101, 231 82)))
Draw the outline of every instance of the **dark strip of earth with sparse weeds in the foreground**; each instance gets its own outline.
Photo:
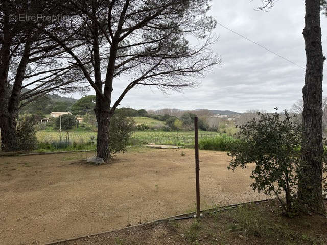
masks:
MULTIPOLYGON (((61 242, 58 245, 325 245, 327 220, 322 215, 288 218, 276 201, 233 208, 202 218, 164 220, 61 242), (243 210, 243 211, 241 211, 243 210), (239 218, 246 219, 243 221, 239 218), (246 225, 251 220, 256 226, 246 225), (238 222, 241 221, 241 224, 238 222), (197 224, 195 226, 195 224, 197 224), (267 229, 268 228, 268 229, 267 229), (256 233, 258 232, 258 233, 256 233)), ((327 202, 325 202, 327 205, 327 202)))

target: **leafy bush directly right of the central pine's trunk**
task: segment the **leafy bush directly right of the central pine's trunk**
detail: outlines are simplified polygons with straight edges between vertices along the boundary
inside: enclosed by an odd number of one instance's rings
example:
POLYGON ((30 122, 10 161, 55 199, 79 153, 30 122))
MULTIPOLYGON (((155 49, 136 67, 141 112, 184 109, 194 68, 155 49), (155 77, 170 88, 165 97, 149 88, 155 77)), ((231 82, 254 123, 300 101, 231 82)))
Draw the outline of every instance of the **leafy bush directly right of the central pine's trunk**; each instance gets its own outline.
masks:
POLYGON ((124 111, 116 112, 110 120, 109 150, 111 157, 120 151, 125 152, 133 133, 135 121, 124 111))

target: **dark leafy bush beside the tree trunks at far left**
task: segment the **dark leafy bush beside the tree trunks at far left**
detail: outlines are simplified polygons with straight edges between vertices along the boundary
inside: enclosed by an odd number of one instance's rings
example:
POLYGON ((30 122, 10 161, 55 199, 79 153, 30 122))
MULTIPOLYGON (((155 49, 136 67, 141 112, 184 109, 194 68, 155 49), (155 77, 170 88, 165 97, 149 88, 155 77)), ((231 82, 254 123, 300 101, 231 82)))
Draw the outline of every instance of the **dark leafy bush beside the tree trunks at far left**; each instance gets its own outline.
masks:
POLYGON ((31 151, 36 149, 36 121, 34 116, 20 119, 16 130, 19 150, 31 151))

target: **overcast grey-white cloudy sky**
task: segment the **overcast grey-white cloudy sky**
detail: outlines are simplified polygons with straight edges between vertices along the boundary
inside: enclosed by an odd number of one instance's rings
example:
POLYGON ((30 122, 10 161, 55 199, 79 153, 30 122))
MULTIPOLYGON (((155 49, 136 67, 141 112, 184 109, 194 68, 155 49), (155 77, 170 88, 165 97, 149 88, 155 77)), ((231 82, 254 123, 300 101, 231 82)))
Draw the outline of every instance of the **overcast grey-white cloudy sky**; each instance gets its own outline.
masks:
MULTIPOLYGON (((304 1, 280 0, 269 13, 254 11, 260 3, 260 0, 214 0, 211 15, 223 26, 305 67, 302 36, 304 1)), ((327 50, 327 32, 324 31, 327 30, 327 17, 321 18, 321 24, 322 44, 327 50)), ((274 107, 288 109, 301 98, 304 69, 267 52, 219 24, 214 33, 219 36, 219 41, 212 46, 212 50, 221 56, 223 63, 201 79, 198 89, 163 94, 155 88, 137 87, 125 96, 121 106, 135 109, 273 111, 274 107)), ((327 77, 326 71, 324 77, 327 77)), ((125 79, 115 82, 113 99, 119 96, 126 83, 125 79)), ((323 88, 325 87, 324 85, 323 88)), ((327 90, 324 95, 327 96, 327 90)))

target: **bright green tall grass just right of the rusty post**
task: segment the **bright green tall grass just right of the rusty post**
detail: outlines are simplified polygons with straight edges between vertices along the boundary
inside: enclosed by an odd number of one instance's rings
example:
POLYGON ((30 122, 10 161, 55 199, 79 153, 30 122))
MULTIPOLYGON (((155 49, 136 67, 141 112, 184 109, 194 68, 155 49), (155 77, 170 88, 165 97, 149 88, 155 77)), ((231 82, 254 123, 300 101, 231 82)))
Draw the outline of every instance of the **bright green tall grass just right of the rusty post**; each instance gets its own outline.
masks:
POLYGON ((230 151, 239 142, 239 139, 227 135, 215 136, 211 138, 202 138, 199 140, 199 149, 230 151))

